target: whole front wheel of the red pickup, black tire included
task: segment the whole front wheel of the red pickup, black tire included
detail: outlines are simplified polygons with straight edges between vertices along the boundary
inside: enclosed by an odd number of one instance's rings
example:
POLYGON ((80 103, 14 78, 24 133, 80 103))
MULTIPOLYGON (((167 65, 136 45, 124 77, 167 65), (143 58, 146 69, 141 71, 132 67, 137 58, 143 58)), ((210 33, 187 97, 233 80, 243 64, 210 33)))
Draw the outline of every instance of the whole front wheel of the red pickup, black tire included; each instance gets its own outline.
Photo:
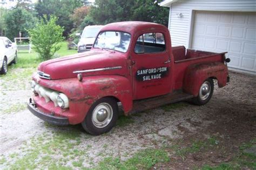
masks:
POLYGON ((92 135, 109 132, 116 124, 118 117, 117 101, 113 98, 102 98, 93 104, 87 113, 82 126, 92 135))

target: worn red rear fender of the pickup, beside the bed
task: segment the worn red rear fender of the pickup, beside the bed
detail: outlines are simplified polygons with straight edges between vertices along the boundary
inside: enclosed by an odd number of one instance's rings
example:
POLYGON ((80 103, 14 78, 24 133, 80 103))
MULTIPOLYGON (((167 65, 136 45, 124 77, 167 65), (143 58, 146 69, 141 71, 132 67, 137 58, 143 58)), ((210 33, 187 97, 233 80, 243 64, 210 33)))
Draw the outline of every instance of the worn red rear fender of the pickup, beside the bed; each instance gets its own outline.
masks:
POLYGON ((198 96, 201 84, 207 78, 218 80, 218 86, 224 87, 227 83, 227 66, 223 63, 193 64, 187 67, 183 80, 183 91, 198 96))

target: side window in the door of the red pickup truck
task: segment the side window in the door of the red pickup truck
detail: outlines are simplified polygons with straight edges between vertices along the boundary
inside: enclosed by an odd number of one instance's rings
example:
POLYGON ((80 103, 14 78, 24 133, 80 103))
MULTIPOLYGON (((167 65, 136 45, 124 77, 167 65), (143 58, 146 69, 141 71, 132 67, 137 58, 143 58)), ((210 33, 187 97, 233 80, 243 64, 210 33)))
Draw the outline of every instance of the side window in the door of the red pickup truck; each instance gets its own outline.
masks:
POLYGON ((144 33, 137 39, 135 53, 154 53, 165 51, 165 39, 163 33, 144 33))

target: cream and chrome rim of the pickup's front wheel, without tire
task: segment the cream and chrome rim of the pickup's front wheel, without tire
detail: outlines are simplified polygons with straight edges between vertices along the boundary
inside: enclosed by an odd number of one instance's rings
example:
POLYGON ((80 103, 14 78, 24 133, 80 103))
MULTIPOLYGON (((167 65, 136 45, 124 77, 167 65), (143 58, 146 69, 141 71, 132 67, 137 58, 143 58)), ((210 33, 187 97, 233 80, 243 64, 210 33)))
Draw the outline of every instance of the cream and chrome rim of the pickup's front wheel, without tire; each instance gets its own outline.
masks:
POLYGON ((92 112, 92 123, 98 128, 109 125, 113 117, 113 109, 108 103, 101 103, 92 112))

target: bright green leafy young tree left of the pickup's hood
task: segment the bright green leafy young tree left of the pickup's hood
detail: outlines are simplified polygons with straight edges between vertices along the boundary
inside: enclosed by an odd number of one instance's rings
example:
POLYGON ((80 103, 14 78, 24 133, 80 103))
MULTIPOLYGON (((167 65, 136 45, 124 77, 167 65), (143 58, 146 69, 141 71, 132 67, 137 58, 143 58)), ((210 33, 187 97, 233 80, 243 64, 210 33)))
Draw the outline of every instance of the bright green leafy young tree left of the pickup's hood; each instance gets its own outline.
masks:
POLYGON ((56 22, 56 16, 50 16, 48 20, 48 17, 44 15, 35 28, 29 30, 33 44, 32 49, 38 52, 44 60, 51 59, 55 52, 60 49, 58 43, 64 40, 62 37, 64 29, 56 22))

